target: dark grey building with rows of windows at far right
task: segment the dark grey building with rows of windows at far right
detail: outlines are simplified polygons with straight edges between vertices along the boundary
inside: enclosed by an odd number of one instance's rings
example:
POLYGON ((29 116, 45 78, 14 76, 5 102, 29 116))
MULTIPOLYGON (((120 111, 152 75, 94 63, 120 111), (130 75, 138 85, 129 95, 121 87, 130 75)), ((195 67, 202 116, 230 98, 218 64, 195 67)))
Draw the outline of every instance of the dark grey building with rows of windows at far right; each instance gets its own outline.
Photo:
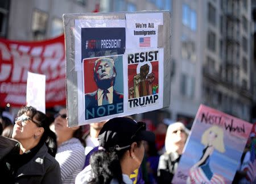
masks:
POLYGON ((251 86, 250 1, 203 1, 203 103, 249 121, 251 86))

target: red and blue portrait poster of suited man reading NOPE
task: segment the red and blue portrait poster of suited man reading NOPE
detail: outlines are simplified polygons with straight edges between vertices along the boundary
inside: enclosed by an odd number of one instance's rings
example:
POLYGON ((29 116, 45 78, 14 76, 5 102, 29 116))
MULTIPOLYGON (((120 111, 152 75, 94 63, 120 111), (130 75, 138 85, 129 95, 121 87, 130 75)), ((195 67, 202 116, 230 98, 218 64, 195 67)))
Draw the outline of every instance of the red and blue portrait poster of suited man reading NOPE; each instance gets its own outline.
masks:
POLYGON ((85 119, 123 112, 123 57, 83 60, 85 119))

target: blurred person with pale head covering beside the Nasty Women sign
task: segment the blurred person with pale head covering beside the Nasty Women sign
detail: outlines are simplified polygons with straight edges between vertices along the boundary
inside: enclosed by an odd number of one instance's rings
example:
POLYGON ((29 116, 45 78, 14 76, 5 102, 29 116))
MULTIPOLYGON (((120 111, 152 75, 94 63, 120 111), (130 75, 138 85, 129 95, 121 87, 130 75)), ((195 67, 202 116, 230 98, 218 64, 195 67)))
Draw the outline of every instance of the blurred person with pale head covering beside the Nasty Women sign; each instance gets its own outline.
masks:
POLYGON ((166 152, 159 158, 158 183, 171 183, 177 169, 189 130, 183 123, 170 124, 166 132, 166 152))

